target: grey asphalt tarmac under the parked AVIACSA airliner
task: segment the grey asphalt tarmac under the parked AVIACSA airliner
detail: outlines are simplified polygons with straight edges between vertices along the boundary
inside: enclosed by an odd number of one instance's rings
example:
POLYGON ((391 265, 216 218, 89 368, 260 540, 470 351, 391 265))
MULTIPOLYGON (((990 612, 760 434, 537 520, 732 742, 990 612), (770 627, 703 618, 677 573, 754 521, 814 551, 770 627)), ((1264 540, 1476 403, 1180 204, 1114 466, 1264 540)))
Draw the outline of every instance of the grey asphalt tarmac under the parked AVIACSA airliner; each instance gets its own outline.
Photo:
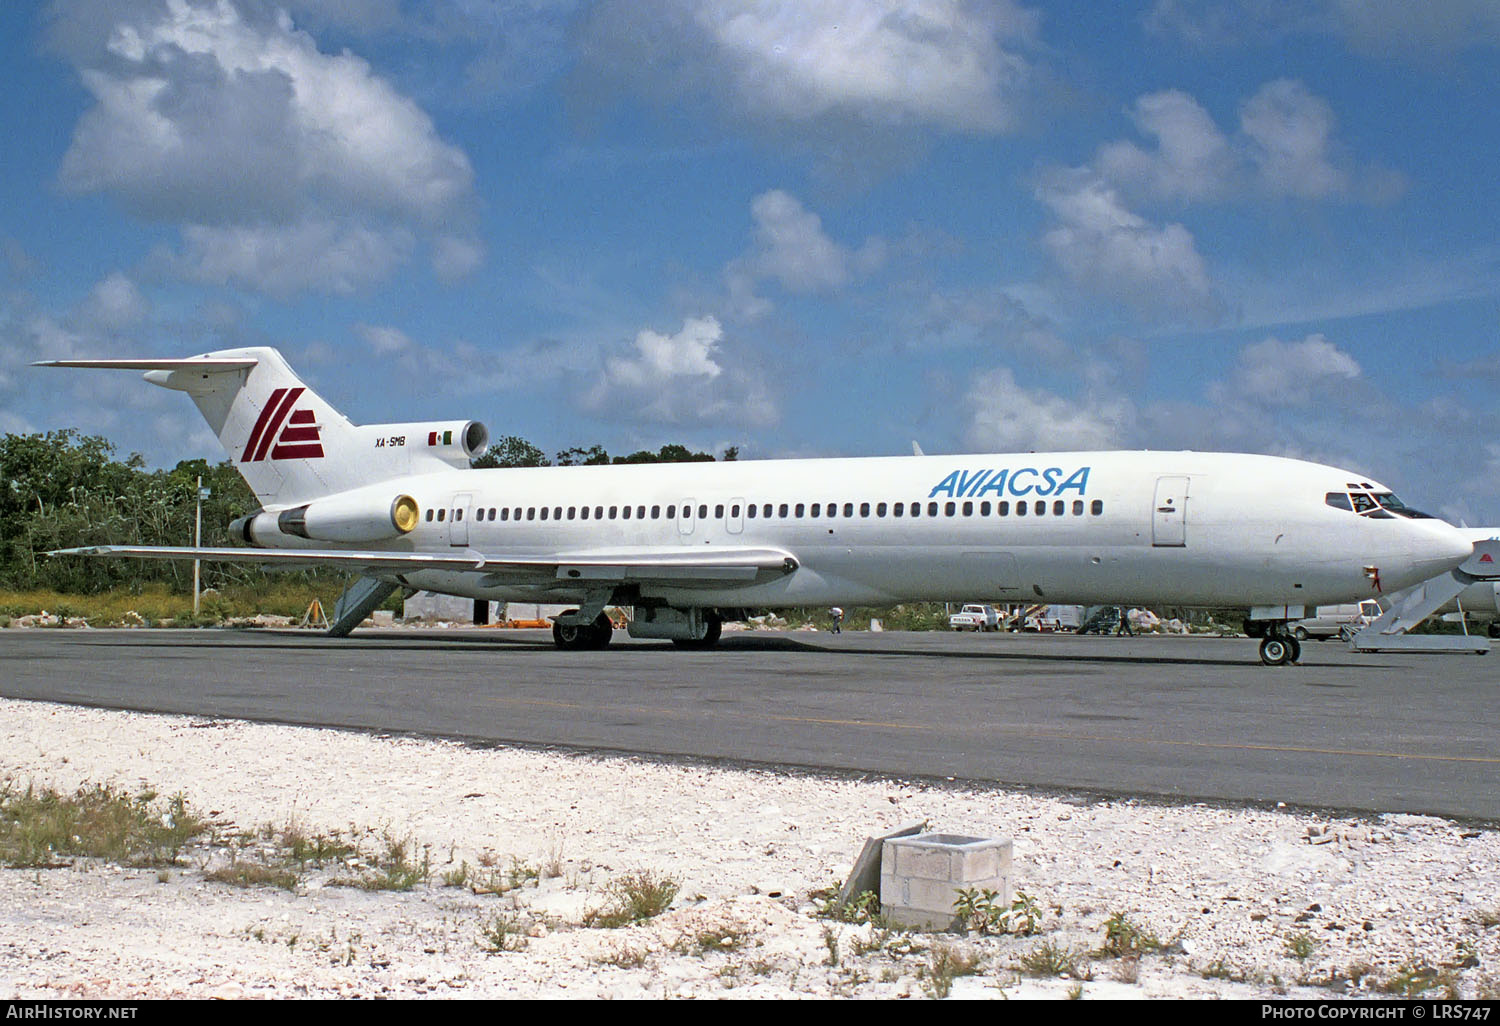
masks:
POLYGON ((1044 790, 1500 820, 1500 656, 954 633, 4 630, 0 696, 1044 790))

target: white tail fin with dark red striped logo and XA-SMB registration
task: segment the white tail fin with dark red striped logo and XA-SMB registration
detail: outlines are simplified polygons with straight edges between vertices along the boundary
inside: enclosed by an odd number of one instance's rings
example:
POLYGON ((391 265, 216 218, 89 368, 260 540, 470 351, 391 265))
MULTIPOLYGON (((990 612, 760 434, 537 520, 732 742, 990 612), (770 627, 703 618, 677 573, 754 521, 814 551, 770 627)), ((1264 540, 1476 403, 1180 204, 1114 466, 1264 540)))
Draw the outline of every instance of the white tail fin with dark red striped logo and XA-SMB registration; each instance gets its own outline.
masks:
POLYGON ((476 422, 360 428, 268 346, 164 360, 50 360, 39 366, 144 370, 186 392, 250 490, 279 508, 362 484, 468 466, 489 434, 476 422), (423 444, 426 442, 426 444, 423 444))

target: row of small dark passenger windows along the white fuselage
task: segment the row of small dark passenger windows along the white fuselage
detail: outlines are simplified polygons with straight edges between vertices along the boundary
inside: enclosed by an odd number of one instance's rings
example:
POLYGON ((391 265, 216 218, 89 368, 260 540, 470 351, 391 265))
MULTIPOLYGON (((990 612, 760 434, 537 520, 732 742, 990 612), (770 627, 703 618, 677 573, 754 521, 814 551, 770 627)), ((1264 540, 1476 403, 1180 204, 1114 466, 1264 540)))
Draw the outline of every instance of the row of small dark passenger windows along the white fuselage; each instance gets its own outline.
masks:
MULTIPOLYGON (((740 502, 732 502, 732 504, 728 506, 729 518, 735 519, 735 520, 738 520, 741 516, 744 516, 746 519, 750 519, 750 520, 754 520, 754 519, 764 519, 764 520, 770 520, 770 519, 813 519, 813 518, 816 518, 816 519, 836 519, 836 518, 840 518, 840 508, 842 508, 843 519, 855 519, 856 516, 858 518, 868 518, 872 514, 876 516, 876 518, 884 518, 884 516, 892 516, 892 518, 896 518, 896 516, 904 516, 904 518, 909 518, 909 519, 912 519, 912 518, 921 518, 921 516, 928 516, 928 518, 934 518, 934 516, 975 516, 975 514, 978 514, 978 516, 1011 516, 1012 513, 1014 513, 1014 516, 1047 516, 1048 512, 1052 513, 1052 516, 1068 516, 1070 513, 1072 516, 1083 516, 1084 514, 1084 502, 1083 502, 1083 500, 1072 500, 1071 504, 1068 501, 1065 501, 1065 500, 1053 500, 1052 502, 1047 502, 1046 500, 1034 500, 1030 502, 1018 501, 1014 506, 1010 501, 1005 501, 1005 500, 1002 500, 999 502, 990 502, 990 501, 984 501, 984 502, 974 502, 974 501, 957 502, 957 501, 950 501, 950 502, 927 502, 926 507, 921 502, 873 502, 873 504, 872 502, 860 502, 860 504, 844 502, 842 507, 840 507, 838 502, 826 502, 826 504, 824 504, 824 502, 812 502, 812 504, 808 504, 808 502, 782 502, 782 504, 772 504, 772 502, 756 504, 756 502, 750 502, 750 504, 746 504, 744 507, 741 507, 740 502), (924 508, 926 508, 926 513, 924 513, 924 508)), ((716 520, 724 519, 724 510, 726 510, 726 506, 723 502, 714 504, 714 519, 716 520)), ((669 519, 669 520, 675 520, 676 519, 676 513, 678 513, 676 504, 666 506, 664 512, 666 512, 666 519, 669 519)), ((663 507, 662 506, 651 506, 651 507, 645 507, 645 506, 608 506, 608 507, 606 506, 594 506, 594 507, 588 507, 588 506, 568 506, 568 507, 562 507, 562 506, 550 506, 550 507, 548 507, 548 506, 540 506, 540 507, 537 507, 537 506, 526 506, 526 507, 520 507, 520 506, 518 506, 518 507, 494 507, 492 506, 489 508, 478 508, 478 510, 476 510, 474 512, 474 519, 477 519, 477 520, 495 520, 495 519, 500 519, 502 522, 504 520, 522 520, 522 519, 525 519, 525 520, 548 520, 548 519, 561 520, 561 519, 564 519, 564 514, 566 514, 566 518, 568 520, 588 520, 588 519, 594 519, 594 520, 603 520, 603 519, 628 520, 632 518, 634 518, 638 520, 645 520, 645 519, 660 520, 662 519, 662 513, 663 513, 663 507), (650 514, 648 514, 648 508, 650 508, 650 514), (590 516, 591 510, 592 510, 592 518, 590 516)), ((1089 502, 1088 513, 1089 513, 1089 516, 1101 516, 1104 513, 1104 500, 1094 500, 1092 502, 1089 502)), ((684 506, 682 507, 682 516, 693 516, 693 507, 684 506)), ((434 520, 434 519, 444 520, 446 518, 447 518, 447 510, 435 510, 435 512, 430 510, 430 508, 428 510, 428 520, 429 522, 434 520)), ((454 520, 462 520, 464 519, 464 510, 462 508, 453 510, 453 519, 454 520)), ((706 520, 708 519, 708 504, 706 502, 698 507, 698 519, 699 520, 706 520)))

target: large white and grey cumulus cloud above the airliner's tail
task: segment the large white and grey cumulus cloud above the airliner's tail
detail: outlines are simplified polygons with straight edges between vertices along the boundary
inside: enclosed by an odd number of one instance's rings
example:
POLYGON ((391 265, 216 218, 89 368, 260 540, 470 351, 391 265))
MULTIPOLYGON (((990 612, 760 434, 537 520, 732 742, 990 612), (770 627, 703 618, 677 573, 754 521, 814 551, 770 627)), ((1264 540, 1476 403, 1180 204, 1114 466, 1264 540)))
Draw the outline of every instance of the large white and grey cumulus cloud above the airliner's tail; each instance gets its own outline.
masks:
POLYGON ((52 45, 90 106, 58 180, 178 224, 183 273, 286 294, 350 291, 440 240, 476 262, 474 172, 432 118, 285 12, 231 0, 58 0, 52 45), (356 267, 352 261, 363 261, 356 267))

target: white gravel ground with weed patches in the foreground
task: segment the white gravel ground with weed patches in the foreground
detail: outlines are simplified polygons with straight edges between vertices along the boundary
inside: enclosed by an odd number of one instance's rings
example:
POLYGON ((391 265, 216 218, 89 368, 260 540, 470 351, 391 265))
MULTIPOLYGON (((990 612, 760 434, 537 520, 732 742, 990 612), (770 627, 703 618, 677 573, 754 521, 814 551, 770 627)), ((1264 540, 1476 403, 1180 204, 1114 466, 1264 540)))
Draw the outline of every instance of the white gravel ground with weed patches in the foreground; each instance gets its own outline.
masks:
MULTIPOLYGON (((182 792, 220 837, 297 826, 430 861, 411 891, 294 891, 78 861, 0 870, 0 999, 1332 998, 1500 993, 1500 836, 1448 820, 1086 801, 0 700, 0 780, 182 792), (1014 840, 1038 936, 819 915, 868 834, 1014 840), (261 828, 270 828, 262 831, 261 828), (540 870, 506 894, 444 876, 540 870), (642 926, 584 926, 622 874, 676 880, 642 926), (1124 915, 1160 948, 1101 952, 1124 915), (500 921, 525 946, 486 950, 500 921), (1074 972, 1036 975, 1047 944, 1074 972), (1296 957, 1293 950, 1305 957, 1296 957)), ((248 855, 246 855, 248 858, 248 855)), ((354 872, 344 867, 345 873, 354 872)), ((518 873, 530 876, 530 873, 518 873)))

